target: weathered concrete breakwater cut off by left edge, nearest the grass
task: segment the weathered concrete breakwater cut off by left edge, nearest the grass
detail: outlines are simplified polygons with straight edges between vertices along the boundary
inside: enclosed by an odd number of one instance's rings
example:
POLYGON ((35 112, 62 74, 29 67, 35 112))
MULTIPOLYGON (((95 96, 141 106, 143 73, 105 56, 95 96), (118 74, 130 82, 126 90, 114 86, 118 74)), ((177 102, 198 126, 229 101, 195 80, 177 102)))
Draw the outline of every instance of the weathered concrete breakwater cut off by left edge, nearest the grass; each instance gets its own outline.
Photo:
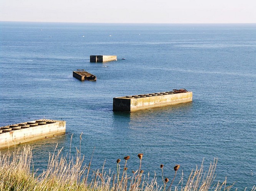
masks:
POLYGON ((0 149, 64 134, 66 121, 40 119, 0 127, 0 149))

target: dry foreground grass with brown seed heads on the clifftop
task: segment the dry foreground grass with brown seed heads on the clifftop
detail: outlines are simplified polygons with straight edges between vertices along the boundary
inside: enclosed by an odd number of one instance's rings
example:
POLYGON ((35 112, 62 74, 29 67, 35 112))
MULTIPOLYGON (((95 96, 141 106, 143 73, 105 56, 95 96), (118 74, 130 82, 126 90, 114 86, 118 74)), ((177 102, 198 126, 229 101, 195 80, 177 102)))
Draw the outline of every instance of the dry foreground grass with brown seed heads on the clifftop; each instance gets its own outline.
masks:
MULTIPOLYGON (((71 138, 72 140, 72 138, 71 138)), ((81 143, 81 136, 80 136, 81 143)), ((180 165, 173 168, 174 175, 170 178, 164 177, 164 165, 162 169, 162 183, 157 181, 157 175, 153 177, 149 173, 141 170, 143 154, 138 154, 140 165, 135 172, 127 173, 127 163, 130 157, 124 157, 125 164, 120 165, 121 159, 117 159, 117 173, 111 170, 104 170, 103 167, 92 170, 91 161, 89 165, 84 165, 84 156, 77 149, 76 155, 63 156, 61 150, 57 150, 49 155, 48 167, 42 173, 38 173, 33 168, 32 148, 25 146, 15 152, 0 152, 0 190, 1 191, 191 191, 191 190, 213 190, 228 191, 233 185, 227 186, 226 180, 215 183, 215 169, 217 159, 210 164, 205 171, 203 162, 200 167, 191 170, 190 175, 185 178, 183 172, 179 172, 180 165), (173 185, 177 173, 181 173, 177 185, 173 185), (152 178, 150 178, 152 177, 152 178)), ((252 191, 255 191, 254 186, 252 191)))

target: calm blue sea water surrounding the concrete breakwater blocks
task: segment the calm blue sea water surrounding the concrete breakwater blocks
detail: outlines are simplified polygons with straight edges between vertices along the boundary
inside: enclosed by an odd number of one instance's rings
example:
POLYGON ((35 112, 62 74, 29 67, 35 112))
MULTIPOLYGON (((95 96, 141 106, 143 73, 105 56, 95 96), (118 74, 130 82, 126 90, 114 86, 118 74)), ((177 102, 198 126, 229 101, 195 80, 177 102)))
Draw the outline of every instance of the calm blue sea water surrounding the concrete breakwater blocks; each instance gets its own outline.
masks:
MULTIPOLYGON (((79 147, 92 168, 116 169, 130 155, 161 177, 205 168, 216 180, 256 185, 256 24, 83 24, 0 22, 0 126, 40 118, 66 121, 66 134, 31 143, 46 168, 56 143, 79 147), (89 55, 117 55, 90 63, 89 55), (126 58, 122 60, 121 58, 126 58), (85 69, 97 81, 79 81, 85 69), (193 102, 132 113, 113 97, 185 88, 193 102), (251 174, 253 172, 253 174, 251 174)), ((72 150, 75 151, 73 148, 72 150)), ((159 179, 160 180, 160 179, 159 179)))

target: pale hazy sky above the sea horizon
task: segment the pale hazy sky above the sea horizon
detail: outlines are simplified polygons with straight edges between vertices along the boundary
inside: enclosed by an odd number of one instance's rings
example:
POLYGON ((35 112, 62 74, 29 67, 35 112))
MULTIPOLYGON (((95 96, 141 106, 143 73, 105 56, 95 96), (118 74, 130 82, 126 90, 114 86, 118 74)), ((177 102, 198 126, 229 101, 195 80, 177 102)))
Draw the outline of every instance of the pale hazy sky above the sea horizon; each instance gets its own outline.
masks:
POLYGON ((0 21, 256 23, 256 0, 0 0, 0 21))

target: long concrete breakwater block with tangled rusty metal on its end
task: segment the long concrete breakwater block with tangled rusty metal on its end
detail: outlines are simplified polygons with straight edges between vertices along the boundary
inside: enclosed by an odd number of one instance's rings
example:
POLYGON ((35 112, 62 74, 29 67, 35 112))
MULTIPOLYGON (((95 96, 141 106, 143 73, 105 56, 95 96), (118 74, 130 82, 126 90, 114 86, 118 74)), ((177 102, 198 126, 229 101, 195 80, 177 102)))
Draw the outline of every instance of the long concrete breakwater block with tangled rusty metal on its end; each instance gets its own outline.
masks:
POLYGON ((113 111, 132 112, 147 108, 192 102, 192 96, 192 92, 180 89, 170 92, 114 97, 113 111))

